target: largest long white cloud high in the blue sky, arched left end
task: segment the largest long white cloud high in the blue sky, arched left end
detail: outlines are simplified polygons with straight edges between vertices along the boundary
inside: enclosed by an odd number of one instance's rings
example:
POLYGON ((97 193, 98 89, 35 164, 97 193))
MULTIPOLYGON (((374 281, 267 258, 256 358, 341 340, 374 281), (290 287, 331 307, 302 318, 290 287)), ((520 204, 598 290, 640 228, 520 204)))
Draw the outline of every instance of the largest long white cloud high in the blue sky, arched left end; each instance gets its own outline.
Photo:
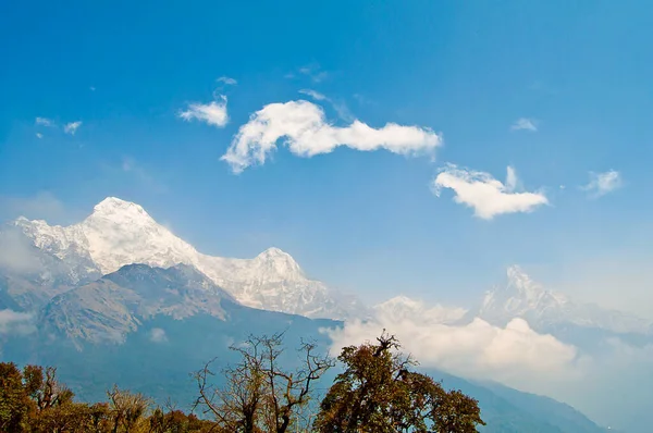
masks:
POLYGON ((361 151, 385 149, 393 153, 432 153, 442 144, 432 129, 387 123, 373 128, 360 121, 345 127, 328 123, 322 108, 308 101, 270 103, 241 126, 226 153, 221 158, 239 173, 252 164, 263 164, 283 139, 299 157, 329 153, 346 146, 361 151))

